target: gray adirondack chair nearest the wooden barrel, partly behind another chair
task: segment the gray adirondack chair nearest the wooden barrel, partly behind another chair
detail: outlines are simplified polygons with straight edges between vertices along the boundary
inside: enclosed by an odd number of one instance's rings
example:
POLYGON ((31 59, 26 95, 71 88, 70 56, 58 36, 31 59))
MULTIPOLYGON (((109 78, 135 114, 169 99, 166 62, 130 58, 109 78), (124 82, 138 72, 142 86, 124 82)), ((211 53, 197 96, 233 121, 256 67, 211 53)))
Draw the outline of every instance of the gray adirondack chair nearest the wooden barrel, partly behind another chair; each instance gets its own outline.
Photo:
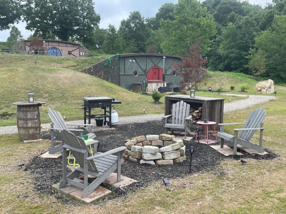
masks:
POLYGON ((57 130, 59 132, 61 132, 62 130, 74 131, 74 132, 78 132, 79 136, 82 136, 83 135, 82 129, 69 129, 68 126, 74 126, 74 125, 88 126, 88 138, 94 139, 96 137, 96 135, 94 133, 92 133, 92 127, 94 126, 94 124, 66 124, 66 122, 63 120, 63 117, 60 114, 60 112, 55 111, 54 109, 51 109, 51 108, 49 108, 48 116, 52 120, 51 128, 50 128, 52 148, 49 150, 49 154, 55 154, 56 152, 61 152, 63 150, 63 148, 62 148, 63 144, 55 147, 54 130, 57 130))

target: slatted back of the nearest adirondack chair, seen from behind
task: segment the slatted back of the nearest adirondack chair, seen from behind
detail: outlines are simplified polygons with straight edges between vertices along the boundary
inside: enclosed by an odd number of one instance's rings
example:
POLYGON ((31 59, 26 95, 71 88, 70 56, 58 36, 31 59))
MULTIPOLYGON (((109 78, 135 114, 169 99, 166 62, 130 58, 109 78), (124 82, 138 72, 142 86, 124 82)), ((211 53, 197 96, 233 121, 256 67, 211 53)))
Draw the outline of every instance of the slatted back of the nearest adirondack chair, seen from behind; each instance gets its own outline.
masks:
MULTIPOLYGON (((67 145, 74 147, 74 148, 77 148, 77 149, 87 150, 88 156, 91 156, 87 147, 86 147, 85 142, 80 137, 75 136, 73 133, 71 133, 67 130, 61 131, 60 137, 63 139, 63 141, 67 145)), ((80 164, 80 167, 83 168, 83 166, 84 166, 84 154, 77 152, 75 150, 72 150, 72 149, 71 149, 71 153, 74 155, 74 158, 80 164)), ((96 167, 93 160, 88 161, 88 171, 98 172, 97 167, 96 167)))

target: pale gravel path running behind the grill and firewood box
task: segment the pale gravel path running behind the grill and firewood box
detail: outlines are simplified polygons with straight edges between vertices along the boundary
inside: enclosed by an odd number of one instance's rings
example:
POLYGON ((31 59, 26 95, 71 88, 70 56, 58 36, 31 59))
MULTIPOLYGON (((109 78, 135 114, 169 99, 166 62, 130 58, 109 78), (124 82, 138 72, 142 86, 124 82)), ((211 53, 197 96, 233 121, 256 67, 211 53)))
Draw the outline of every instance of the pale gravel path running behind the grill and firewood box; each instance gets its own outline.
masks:
MULTIPOLYGON (((248 108, 252 105, 258 104, 258 103, 264 103, 268 102, 269 100, 273 100, 276 97, 272 96, 262 96, 262 95, 238 95, 238 94, 225 94, 229 96, 238 96, 238 97, 247 97, 246 100, 238 100, 235 102, 228 103, 226 100, 224 104, 224 113, 229 111, 234 111, 237 109, 243 109, 248 108)), ((129 116, 129 117, 119 117, 119 124, 127 124, 127 123, 134 123, 134 122, 147 122, 152 120, 160 120, 161 117, 164 116, 164 114, 142 114, 139 116, 129 116)), ((75 120, 75 121, 68 121, 68 123, 78 123, 83 124, 83 120, 75 120)), ((43 127, 49 128, 50 123, 42 124, 43 127)), ((76 127, 71 127, 76 128, 76 127)), ((0 134, 13 134, 17 133, 17 126, 3 126, 0 127, 0 134)))

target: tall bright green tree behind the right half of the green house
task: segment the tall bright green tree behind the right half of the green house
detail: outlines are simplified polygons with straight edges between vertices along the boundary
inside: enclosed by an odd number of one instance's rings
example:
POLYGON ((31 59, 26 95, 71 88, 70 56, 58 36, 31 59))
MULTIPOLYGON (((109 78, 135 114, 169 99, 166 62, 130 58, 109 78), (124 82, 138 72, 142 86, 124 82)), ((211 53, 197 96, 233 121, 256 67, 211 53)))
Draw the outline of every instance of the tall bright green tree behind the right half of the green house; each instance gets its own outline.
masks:
POLYGON ((185 56, 189 42, 201 41, 201 54, 211 45, 210 37, 216 33, 215 22, 206 8, 196 0, 178 0, 172 14, 174 20, 161 20, 161 48, 166 54, 185 56))

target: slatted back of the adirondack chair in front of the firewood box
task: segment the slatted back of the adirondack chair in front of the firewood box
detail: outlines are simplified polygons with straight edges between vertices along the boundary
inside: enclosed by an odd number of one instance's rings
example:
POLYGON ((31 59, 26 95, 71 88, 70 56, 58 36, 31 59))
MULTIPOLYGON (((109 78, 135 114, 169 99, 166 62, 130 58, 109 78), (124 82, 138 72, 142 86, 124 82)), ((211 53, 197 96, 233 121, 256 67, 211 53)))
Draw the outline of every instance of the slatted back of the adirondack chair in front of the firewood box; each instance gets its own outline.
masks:
POLYGON ((173 103, 172 124, 185 125, 186 117, 189 117, 190 105, 184 101, 173 103))

